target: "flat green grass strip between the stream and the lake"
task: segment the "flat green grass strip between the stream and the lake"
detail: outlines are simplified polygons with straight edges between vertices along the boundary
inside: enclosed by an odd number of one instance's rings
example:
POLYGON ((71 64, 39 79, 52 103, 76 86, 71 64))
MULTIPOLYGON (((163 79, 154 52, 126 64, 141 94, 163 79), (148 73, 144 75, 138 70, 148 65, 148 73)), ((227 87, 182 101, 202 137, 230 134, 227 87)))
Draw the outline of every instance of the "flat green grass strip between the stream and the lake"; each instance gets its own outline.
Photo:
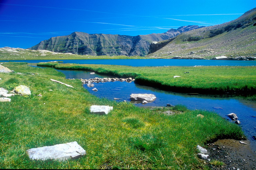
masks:
POLYGON ((167 91, 252 95, 256 92, 256 67, 130 67, 102 64, 39 63, 38 66, 56 69, 90 70, 101 74, 133 77, 135 83, 167 91), (189 72, 189 73, 184 73, 189 72), (173 76, 181 76, 173 78, 173 76))

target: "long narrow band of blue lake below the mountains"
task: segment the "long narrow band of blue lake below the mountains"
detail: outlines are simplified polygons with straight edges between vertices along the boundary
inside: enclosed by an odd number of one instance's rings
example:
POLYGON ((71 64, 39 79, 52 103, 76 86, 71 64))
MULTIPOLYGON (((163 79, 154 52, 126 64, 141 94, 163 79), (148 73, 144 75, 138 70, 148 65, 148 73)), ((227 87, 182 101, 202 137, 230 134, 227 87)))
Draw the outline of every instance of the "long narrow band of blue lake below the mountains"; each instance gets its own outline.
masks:
POLYGON ((124 66, 256 66, 256 61, 232 60, 189 60, 189 59, 113 59, 113 60, 0 60, 0 62, 48 62, 63 61, 63 63, 79 64, 112 64, 124 66))

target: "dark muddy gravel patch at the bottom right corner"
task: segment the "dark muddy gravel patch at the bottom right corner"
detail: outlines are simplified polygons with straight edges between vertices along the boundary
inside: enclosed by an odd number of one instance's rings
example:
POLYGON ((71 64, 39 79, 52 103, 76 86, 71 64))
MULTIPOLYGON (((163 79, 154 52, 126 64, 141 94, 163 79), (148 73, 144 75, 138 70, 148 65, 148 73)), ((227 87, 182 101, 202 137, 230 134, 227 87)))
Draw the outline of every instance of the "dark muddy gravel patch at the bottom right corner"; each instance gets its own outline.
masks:
POLYGON ((253 170, 256 169, 256 153, 250 148, 250 141, 243 141, 247 144, 241 144, 238 140, 222 139, 214 143, 207 144, 211 160, 218 160, 225 163, 221 167, 213 166, 212 169, 218 170, 253 170))

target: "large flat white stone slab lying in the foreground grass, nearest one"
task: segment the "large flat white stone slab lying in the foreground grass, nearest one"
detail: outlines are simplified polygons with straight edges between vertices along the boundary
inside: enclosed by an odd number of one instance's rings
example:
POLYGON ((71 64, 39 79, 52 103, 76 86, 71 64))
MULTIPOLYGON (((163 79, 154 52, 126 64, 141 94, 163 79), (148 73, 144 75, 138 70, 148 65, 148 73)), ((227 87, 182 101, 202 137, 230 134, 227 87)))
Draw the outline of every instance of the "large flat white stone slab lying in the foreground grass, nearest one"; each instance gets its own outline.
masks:
POLYGON ((56 144, 54 146, 45 146, 27 150, 27 154, 32 160, 54 159, 64 161, 76 159, 86 154, 86 151, 76 142, 56 144))

